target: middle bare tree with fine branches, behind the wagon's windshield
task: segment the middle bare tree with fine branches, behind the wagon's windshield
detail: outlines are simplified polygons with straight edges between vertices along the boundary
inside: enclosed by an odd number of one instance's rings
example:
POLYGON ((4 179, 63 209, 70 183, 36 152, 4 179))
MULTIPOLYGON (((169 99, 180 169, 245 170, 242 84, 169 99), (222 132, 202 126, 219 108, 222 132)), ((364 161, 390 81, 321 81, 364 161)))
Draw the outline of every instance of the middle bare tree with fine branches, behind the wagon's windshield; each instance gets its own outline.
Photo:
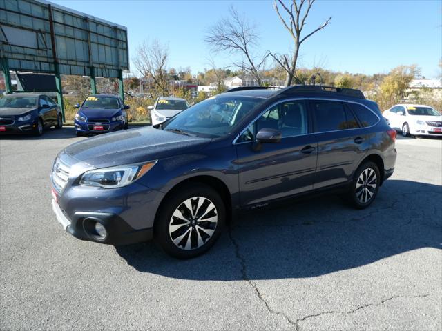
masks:
POLYGON ((229 14, 229 18, 224 17, 209 28, 205 41, 216 52, 227 51, 229 54, 241 54, 242 61, 232 63, 232 66, 250 74, 261 86, 260 71, 265 66, 267 56, 257 57, 253 54, 259 39, 256 27, 244 16, 238 14, 233 6, 229 8, 229 14))

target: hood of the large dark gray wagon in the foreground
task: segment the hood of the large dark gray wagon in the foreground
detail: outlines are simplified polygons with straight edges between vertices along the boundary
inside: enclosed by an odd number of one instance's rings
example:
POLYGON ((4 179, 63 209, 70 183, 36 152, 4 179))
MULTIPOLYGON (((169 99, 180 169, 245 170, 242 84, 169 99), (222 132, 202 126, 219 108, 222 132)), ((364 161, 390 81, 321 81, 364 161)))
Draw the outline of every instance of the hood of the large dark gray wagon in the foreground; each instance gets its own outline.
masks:
POLYGON ((210 141, 148 126, 79 141, 65 148, 64 152, 95 168, 105 168, 195 152, 210 141))

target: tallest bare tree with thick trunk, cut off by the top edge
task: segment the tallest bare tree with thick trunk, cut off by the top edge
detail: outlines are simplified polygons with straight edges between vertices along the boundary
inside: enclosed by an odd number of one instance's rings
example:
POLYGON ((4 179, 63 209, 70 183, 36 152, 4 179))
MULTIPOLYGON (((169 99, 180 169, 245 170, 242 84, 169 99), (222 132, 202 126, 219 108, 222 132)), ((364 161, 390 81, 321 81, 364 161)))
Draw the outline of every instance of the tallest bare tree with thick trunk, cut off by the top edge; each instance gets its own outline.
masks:
POLYGON ((296 62, 298 61, 299 48, 301 44, 306 41, 313 34, 325 28, 332 17, 329 17, 321 26, 301 37, 302 29, 304 29, 306 19, 309 16, 311 6, 315 0, 291 0, 290 6, 287 6, 282 0, 273 0, 273 8, 276 10, 276 14, 280 18, 284 27, 289 31, 291 38, 294 41, 294 50, 291 54, 291 59, 286 54, 278 55, 269 52, 271 57, 284 68, 286 72, 285 86, 290 86, 292 81, 296 79, 296 62), (285 16, 281 14, 280 7, 285 11, 285 16))

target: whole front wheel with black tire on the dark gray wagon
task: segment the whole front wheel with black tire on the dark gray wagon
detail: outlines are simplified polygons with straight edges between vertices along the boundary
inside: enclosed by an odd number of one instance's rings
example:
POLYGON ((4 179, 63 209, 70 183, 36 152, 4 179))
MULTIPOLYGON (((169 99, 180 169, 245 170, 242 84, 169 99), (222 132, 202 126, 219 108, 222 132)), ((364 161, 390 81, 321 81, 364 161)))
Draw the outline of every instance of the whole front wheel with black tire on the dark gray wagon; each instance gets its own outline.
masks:
POLYGON ((203 184, 185 185, 162 203, 155 219, 154 237, 172 257, 191 259, 213 246, 225 219, 224 202, 213 188, 203 184), (190 203, 192 210, 185 203, 190 203), (206 221, 209 219, 211 221, 206 221))

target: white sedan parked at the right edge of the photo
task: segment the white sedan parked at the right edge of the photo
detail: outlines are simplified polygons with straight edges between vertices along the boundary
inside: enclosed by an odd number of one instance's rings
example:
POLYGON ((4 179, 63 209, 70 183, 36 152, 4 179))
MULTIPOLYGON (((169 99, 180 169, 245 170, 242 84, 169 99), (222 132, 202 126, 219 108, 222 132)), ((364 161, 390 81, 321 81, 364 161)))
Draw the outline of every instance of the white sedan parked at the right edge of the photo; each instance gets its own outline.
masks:
POLYGON ((412 135, 442 137, 442 115, 425 105, 395 105, 383 112, 390 126, 402 131, 404 137, 412 135))

